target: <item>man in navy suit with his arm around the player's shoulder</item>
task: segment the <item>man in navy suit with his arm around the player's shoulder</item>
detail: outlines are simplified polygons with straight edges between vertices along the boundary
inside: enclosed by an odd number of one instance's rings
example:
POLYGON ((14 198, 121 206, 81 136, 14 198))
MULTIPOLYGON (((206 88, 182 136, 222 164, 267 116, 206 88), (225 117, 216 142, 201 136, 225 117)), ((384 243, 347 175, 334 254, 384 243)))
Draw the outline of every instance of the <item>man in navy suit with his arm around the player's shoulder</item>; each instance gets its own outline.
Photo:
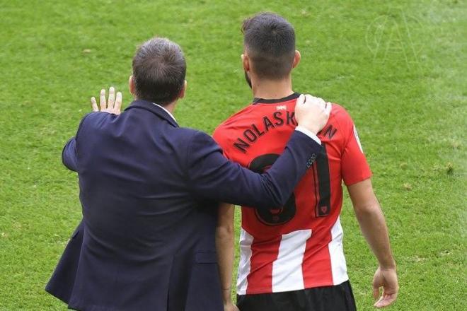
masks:
POLYGON ((226 160, 209 135, 178 127, 172 112, 186 89, 178 45, 145 42, 132 69, 136 100, 117 116, 121 93, 115 100, 111 88, 107 103, 101 91, 101 111, 93 99, 96 112, 64 147, 64 165, 78 172, 83 221, 46 290, 76 310, 222 310, 217 202, 282 206, 321 149, 316 133, 329 107, 302 95, 299 126, 260 175, 226 160))

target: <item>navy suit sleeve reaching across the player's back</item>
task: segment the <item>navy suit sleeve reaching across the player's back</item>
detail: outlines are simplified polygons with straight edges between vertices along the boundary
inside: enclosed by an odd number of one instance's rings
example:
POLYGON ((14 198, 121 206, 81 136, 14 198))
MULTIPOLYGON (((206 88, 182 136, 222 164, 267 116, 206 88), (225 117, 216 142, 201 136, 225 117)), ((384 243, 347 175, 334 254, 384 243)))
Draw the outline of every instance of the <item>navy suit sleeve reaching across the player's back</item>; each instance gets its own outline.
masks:
POLYGON ((227 160, 211 136, 197 132, 188 147, 188 180, 195 196, 272 209, 285 204, 320 150, 319 143, 294 131, 274 165, 258 174, 227 160))

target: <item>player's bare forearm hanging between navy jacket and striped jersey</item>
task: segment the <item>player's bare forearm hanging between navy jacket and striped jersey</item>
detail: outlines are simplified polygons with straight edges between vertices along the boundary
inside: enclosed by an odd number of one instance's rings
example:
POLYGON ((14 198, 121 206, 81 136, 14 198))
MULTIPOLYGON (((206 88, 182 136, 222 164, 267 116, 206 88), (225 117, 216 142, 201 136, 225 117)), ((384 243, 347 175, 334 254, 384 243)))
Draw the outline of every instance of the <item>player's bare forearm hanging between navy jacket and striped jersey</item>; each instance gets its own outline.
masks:
POLYGON ((232 270, 234 254, 233 209, 229 203, 219 204, 216 228, 217 262, 219 264, 219 277, 221 279, 222 299, 224 311, 238 311, 232 303, 232 270))

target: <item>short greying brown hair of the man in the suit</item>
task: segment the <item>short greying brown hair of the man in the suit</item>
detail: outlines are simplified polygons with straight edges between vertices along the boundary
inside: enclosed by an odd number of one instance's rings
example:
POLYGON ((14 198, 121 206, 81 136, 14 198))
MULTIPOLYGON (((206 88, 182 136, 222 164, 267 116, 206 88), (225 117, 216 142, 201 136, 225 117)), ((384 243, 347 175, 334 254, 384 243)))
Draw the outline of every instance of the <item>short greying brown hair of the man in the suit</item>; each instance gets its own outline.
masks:
POLYGON ((166 105, 178 97, 185 83, 187 66, 182 49, 166 38, 144 42, 132 66, 135 92, 142 100, 166 105))

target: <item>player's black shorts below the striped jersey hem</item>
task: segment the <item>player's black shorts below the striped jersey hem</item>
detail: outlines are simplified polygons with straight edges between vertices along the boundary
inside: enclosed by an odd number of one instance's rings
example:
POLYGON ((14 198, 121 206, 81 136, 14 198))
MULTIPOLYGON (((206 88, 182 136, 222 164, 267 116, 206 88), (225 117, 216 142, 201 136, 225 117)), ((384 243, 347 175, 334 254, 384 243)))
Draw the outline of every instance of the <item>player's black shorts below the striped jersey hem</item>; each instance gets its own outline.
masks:
POLYGON ((301 291, 237 295, 240 311, 355 311, 350 282, 301 291))

